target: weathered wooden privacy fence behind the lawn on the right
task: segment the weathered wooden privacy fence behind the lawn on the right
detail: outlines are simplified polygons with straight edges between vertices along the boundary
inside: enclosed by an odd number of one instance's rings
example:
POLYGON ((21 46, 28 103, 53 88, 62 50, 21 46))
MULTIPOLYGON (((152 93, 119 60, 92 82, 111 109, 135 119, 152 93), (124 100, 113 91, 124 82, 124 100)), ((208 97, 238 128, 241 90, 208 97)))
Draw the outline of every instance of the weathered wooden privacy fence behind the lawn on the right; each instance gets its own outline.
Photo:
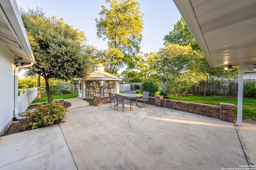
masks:
MULTIPOLYGON (((244 79, 244 84, 246 82, 254 82, 256 79, 244 79)), ((194 85, 190 88, 192 94, 204 94, 205 81, 202 81, 198 85, 194 85)), ((256 86, 256 84, 255 84, 256 86)), ((243 90, 246 90, 245 88, 243 90)), ((220 82, 216 80, 215 82, 209 82, 206 85, 207 95, 221 95, 221 96, 233 96, 238 95, 238 80, 230 80, 227 82, 220 82)))

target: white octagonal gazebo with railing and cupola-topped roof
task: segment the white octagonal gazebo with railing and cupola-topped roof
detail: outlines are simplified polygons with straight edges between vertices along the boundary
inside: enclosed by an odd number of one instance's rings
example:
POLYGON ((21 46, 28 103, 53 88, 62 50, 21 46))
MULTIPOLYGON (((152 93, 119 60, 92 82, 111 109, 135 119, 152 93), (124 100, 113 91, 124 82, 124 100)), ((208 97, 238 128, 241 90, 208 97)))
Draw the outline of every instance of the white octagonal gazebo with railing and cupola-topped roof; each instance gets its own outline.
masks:
POLYGON ((108 96, 108 93, 119 93, 121 78, 104 71, 105 66, 98 64, 96 71, 90 73, 86 79, 79 80, 78 97, 93 99, 94 95, 108 96))

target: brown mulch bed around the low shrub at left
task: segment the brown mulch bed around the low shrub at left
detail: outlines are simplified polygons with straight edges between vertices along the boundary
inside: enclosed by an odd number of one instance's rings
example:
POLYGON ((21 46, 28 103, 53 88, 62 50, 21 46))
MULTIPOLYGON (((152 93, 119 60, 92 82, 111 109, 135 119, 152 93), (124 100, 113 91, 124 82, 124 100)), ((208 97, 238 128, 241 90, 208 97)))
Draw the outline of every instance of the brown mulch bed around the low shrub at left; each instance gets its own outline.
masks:
MULTIPOLYGON (((70 106, 71 106, 70 102, 64 102, 65 108, 68 108, 70 106)), ((36 107, 37 107, 37 105, 32 105, 32 106, 29 106, 27 110, 34 109, 36 107)), ((26 125, 27 121, 28 121, 27 119, 21 119, 19 121, 15 121, 15 120, 12 121, 12 124, 8 127, 8 129, 5 131, 4 135, 2 135, 2 136, 28 131, 26 129, 23 129, 23 127, 24 127, 24 125, 26 125)))

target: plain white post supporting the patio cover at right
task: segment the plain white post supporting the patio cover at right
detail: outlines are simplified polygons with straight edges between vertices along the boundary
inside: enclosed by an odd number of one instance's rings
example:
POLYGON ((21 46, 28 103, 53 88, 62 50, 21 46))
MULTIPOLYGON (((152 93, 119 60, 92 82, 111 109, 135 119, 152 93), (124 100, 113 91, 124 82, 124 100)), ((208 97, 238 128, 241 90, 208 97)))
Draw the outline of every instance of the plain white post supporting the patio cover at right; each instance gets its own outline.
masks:
POLYGON ((238 98, 237 98, 237 125, 238 126, 242 126, 242 117, 243 117, 243 85, 244 85, 244 63, 239 63, 238 98))

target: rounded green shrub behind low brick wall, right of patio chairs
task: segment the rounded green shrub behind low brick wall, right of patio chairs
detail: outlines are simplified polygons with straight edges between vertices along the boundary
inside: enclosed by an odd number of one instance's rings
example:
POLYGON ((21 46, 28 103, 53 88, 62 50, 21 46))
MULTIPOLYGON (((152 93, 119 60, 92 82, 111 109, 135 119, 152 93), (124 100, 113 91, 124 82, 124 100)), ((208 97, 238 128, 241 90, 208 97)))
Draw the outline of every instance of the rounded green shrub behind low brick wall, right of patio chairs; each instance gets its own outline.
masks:
POLYGON ((160 87, 156 79, 148 78, 142 82, 142 91, 150 92, 149 96, 156 96, 160 94, 160 87))

